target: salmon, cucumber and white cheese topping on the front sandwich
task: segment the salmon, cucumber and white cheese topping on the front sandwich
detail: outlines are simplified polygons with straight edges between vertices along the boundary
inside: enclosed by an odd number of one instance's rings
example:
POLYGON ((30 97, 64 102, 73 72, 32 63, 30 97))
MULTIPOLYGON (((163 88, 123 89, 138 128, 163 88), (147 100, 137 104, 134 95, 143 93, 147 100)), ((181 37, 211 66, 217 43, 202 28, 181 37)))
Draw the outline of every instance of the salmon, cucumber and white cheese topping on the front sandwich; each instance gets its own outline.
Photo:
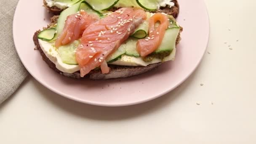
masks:
POLYGON ((61 72, 80 70, 84 77, 95 68, 109 73, 108 64, 147 66, 174 60, 180 27, 173 16, 139 7, 98 11, 88 2, 77 0, 56 25, 38 35, 43 52, 61 72))

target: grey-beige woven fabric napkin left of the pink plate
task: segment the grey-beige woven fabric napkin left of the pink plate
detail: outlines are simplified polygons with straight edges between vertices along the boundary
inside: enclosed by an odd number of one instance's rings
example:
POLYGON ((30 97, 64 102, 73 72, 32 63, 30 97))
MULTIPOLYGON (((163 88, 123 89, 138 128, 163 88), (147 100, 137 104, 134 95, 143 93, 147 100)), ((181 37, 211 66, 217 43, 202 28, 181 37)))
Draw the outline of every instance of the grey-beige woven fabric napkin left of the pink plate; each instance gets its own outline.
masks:
POLYGON ((13 44, 13 14, 18 1, 0 0, 0 104, 28 75, 13 44))

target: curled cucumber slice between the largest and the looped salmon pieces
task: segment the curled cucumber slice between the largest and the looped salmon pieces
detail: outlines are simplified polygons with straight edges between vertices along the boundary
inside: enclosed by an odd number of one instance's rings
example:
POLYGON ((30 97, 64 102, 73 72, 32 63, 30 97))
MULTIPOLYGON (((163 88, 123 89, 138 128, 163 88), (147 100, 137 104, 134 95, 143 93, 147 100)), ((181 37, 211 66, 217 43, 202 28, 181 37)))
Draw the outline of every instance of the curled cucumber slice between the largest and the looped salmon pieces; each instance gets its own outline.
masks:
POLYGON ((135 38, 145 38, 147 36, 147 33, 149 32, 149 18, 150 18, 150 13, 147 12, 147 20, 144 21, 136 30, 135 32, 131 35, 132 37, 135 38))

